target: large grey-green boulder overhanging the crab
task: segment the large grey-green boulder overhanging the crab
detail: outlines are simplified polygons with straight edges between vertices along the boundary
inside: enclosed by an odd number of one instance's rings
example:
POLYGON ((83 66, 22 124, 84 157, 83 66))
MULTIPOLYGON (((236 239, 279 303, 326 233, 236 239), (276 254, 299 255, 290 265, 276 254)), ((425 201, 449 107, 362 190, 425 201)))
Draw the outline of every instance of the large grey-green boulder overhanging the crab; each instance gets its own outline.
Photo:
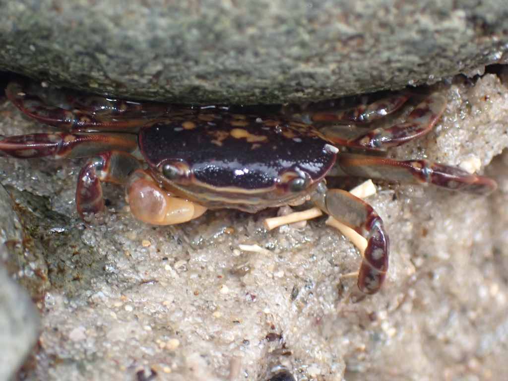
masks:
POLYGON ((504 0, 6 0, 0 68, 181 103, 316 101, 502 59, 504 0))

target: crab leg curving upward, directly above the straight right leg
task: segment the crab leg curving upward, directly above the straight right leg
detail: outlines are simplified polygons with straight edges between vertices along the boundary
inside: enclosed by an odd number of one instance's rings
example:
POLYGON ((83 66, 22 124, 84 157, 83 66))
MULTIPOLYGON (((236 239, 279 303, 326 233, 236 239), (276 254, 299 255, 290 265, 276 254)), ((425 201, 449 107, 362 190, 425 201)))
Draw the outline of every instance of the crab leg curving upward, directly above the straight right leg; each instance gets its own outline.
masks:
POLYGON ((335 144, 347 147, 359 147, 386 150, 417 139, 427 134, 441 117, 447 100, 434 93, 421 102, 403 123, 390 128, 377 128, 360 135, 354 134, 344 126, 327 126, 321 132, 335 144))

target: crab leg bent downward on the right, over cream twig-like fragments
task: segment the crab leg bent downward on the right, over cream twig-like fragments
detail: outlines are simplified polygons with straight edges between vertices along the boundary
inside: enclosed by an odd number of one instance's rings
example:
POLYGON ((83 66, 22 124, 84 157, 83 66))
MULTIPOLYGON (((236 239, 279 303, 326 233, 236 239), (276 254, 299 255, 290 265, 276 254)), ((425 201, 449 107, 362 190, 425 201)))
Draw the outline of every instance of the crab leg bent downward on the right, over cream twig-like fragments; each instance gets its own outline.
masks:
POLYGON ((327 189, 324 182, 316 187, 311 199, 325 213, 367 240, 358 275, 360 294, 353 296, 354 301, 378 292, 388 270, 390 246, 383 220, 369 204, 345 190, 327 189))

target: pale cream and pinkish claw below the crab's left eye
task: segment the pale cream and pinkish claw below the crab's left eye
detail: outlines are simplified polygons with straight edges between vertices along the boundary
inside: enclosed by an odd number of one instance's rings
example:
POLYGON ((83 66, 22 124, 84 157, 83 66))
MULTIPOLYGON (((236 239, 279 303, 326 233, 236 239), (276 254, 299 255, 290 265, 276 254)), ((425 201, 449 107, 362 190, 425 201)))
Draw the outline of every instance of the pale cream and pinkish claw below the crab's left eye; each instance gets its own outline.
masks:
POLYGON ((127 197, 134 216, 154 225, 174 225, 202 215, 207 208, 173 197, 143 170, 135 171, 127 183, 127 197))

